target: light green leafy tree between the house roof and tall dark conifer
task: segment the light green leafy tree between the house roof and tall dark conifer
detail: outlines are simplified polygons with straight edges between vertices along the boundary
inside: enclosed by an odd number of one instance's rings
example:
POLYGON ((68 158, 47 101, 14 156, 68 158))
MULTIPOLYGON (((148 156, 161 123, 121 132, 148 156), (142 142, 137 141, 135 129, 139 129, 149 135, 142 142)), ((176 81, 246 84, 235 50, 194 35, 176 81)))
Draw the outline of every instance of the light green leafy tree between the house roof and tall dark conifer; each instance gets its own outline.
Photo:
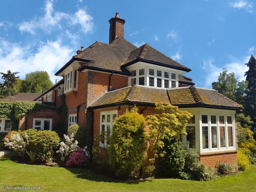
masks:
POLYGON ((228 73, 226 68, 223 68, 218 81, 212 83, 213 89, 241 105, 244 104, 246 86, 247 84, 244 81, 237 81, 235 73, 228 73))

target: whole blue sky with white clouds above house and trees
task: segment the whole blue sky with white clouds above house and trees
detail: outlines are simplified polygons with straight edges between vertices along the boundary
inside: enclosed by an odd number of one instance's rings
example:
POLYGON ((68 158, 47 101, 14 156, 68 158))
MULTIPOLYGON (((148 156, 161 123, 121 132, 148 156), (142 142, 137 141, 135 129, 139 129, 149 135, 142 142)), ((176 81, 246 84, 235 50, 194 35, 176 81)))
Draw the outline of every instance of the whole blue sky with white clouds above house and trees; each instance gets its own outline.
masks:
POLYGON ((256 1, 0 1, 0 72, 54 73, 80 46, 108 43, 108 20, 119 12, 124 38, 149 43, 182 65, 197 87, 211 88, 222 68, 244 80, 255 53, 256 1))

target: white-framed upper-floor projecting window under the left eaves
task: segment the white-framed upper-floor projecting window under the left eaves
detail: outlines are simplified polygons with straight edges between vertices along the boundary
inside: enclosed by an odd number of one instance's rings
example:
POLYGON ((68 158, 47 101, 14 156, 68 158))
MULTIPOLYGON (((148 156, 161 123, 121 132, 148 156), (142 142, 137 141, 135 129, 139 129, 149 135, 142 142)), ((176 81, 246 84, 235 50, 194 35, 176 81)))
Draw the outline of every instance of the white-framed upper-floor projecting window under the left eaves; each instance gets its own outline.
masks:
POLYGON ((77 91, 77 77, 78 72, 76 69, 68 71, 65 74, 64 92, 69 92, 71 90, 77 91))

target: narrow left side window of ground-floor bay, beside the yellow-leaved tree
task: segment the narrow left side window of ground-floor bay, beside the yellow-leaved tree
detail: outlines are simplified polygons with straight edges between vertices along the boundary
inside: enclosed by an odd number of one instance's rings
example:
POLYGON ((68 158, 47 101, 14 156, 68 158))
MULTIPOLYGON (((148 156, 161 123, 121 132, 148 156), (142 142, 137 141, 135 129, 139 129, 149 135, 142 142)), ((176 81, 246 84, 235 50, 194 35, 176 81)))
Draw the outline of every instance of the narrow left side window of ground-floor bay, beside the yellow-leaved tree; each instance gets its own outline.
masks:
POLYGON ((195 115, 193 115, 193 117, 191 117, 188 121, 188 124, 186 126, 186 132, 187 132, 187 136, 186 136, 186 147, 187 148, 196 148, 196 119, 195 119, 195 115))

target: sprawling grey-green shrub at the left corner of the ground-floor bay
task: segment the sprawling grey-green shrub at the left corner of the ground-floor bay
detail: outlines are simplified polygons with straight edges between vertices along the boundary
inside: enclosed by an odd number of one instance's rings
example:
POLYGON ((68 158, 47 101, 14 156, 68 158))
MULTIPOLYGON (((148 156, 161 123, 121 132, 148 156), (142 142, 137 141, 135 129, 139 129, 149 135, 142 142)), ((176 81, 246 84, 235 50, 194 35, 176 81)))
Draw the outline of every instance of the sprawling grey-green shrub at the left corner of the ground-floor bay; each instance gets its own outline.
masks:
POLYGON ((207 168, 205 164, 198 159, 198 154, 193 149, 187 149, 184 170, 191 175, 192 180, 211 180, 214 173, 211 168, 207 168))

